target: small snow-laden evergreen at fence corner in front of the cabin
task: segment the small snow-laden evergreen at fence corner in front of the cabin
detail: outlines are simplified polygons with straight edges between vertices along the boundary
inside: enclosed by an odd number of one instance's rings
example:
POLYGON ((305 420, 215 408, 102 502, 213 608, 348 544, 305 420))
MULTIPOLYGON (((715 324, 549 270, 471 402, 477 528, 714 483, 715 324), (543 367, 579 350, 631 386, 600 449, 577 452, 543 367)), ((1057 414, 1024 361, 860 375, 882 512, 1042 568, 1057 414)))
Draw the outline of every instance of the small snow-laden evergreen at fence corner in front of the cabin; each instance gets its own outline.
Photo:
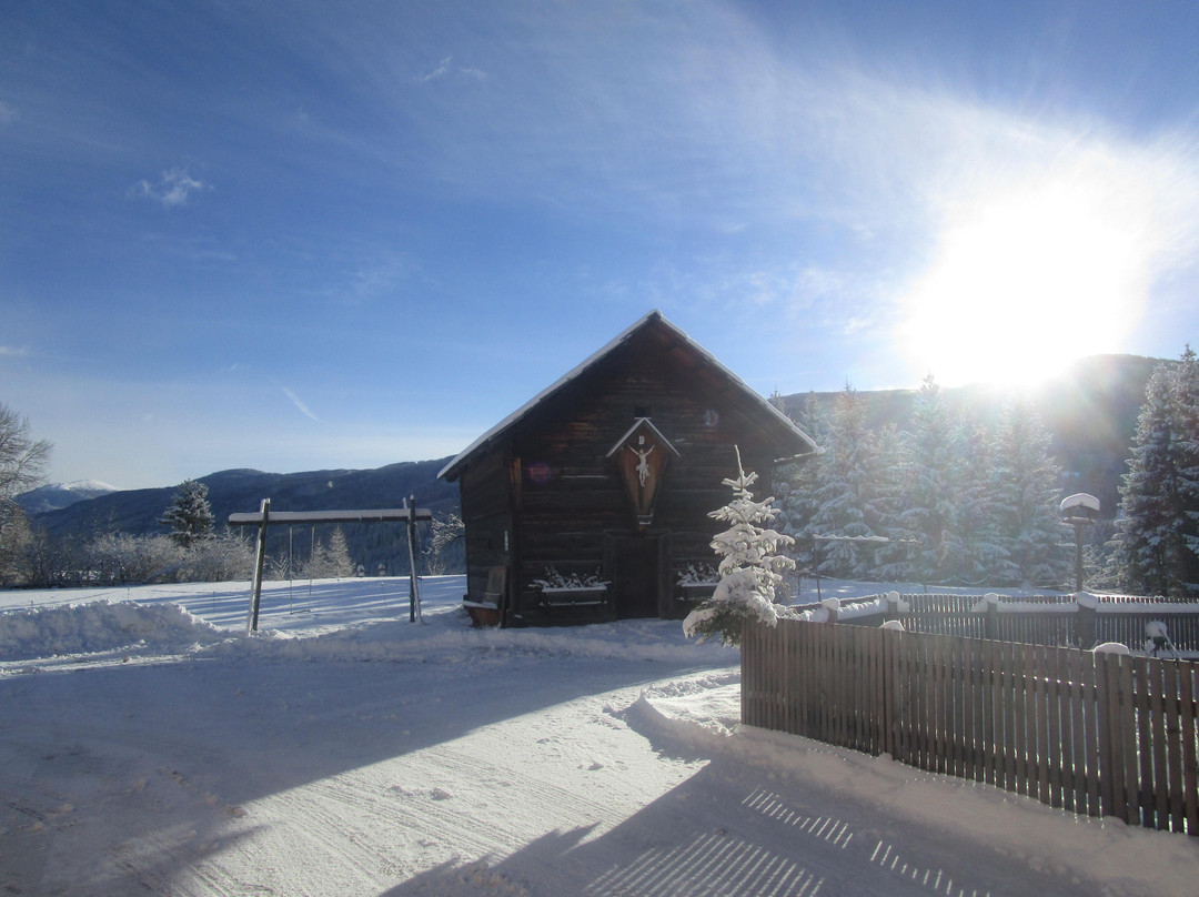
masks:
POLYGON ((721 577, 712 597, 701 602, 683 620, 687 637, 701 639, 719 636, 725 645, 741 643, 741 626, 746 619, 759 620, 771 626, 778 619, 777 589, 783 584, 783 571, 795 567, 790 558, 776 554, 779 547, 794 540, 770 529, 778 517, 773 496, 754 501, 749 487, 758 480, 755 472, 746 472, 737 456, 737 477, 724 480, 733 489, 733 501, 710 512, 715 520, 729 524, 729 529, 712 538, 712 549, 721 559, 721 577))

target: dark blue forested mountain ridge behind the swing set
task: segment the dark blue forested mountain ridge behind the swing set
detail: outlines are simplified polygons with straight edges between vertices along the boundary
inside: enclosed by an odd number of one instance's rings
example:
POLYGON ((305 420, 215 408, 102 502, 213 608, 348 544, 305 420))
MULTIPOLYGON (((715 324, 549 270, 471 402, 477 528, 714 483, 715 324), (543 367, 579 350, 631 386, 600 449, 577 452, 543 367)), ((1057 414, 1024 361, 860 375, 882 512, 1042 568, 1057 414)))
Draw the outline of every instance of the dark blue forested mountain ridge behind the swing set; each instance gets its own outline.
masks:
MULTIPOLYGON (((300 474, 267 474, 260 470, 222 470, 199 477, 209 487, 209 504, 222 529, 229 514, 258 511, 271 499, 273 511, 332 511, 400 507, 416 495, 418 507, 444 516, 458 511, 458 486, 436 478, 450 458, 402 462, 370 470, 312 470, 300 474)), ((32 514, 37 526, 52 536, 90 540, 104 532, 131 535, 167 534, 158 523, 170 505, 175 486, 155 489, 109 492, 66 507, 32 514)), ((406 542, 400 524, 344 524, 350 556, 372 573, 380 564, 388 572, 406 570, 406 542)), ((312 538, 329 540, 329 528, 307 525, 270 530, 269 549, 275 555, 291 553, 296 561, 308 558, 312 538)))

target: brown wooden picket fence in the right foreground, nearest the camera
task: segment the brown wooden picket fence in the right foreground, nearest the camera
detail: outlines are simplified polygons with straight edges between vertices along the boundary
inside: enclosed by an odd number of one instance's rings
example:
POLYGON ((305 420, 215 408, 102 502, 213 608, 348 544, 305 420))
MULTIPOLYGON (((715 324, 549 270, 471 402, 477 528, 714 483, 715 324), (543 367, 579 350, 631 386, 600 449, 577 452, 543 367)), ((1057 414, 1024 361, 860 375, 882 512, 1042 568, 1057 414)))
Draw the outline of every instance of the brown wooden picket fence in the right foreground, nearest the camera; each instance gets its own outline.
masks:
POLYGON ((1197 670, 1074 648, 747 624, 741 720, 1052 807, 1199 835, 1197 670))

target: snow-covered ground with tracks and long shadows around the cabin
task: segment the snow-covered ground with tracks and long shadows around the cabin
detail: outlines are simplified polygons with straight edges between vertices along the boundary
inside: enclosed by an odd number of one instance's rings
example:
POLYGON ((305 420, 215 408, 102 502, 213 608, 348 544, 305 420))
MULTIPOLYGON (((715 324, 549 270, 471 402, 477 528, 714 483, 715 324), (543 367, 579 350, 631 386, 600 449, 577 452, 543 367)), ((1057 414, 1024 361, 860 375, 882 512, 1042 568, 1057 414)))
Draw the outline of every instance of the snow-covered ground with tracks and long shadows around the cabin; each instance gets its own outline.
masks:
POLYGON ((1199 893, 1197 839, 739 728, 679 622, 462 592, 271 583, 255 638, 243 583, 0 592, 0 892, 1199 893))

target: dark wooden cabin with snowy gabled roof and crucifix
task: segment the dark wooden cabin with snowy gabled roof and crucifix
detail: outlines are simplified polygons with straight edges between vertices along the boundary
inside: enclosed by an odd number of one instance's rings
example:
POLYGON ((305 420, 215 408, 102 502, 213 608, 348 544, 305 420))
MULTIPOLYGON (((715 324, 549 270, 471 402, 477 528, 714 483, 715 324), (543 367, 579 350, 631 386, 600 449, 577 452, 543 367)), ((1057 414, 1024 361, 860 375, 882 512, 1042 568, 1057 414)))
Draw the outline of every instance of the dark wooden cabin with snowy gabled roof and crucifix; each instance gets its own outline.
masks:
POLYGON ((471 615, 683 615, 680 577, 716 562, 707 513, 733 498, 734 446, 759 498, 777 462, 815 450, 659 312, 645 315, 441 470, 459 484, 471 615))

